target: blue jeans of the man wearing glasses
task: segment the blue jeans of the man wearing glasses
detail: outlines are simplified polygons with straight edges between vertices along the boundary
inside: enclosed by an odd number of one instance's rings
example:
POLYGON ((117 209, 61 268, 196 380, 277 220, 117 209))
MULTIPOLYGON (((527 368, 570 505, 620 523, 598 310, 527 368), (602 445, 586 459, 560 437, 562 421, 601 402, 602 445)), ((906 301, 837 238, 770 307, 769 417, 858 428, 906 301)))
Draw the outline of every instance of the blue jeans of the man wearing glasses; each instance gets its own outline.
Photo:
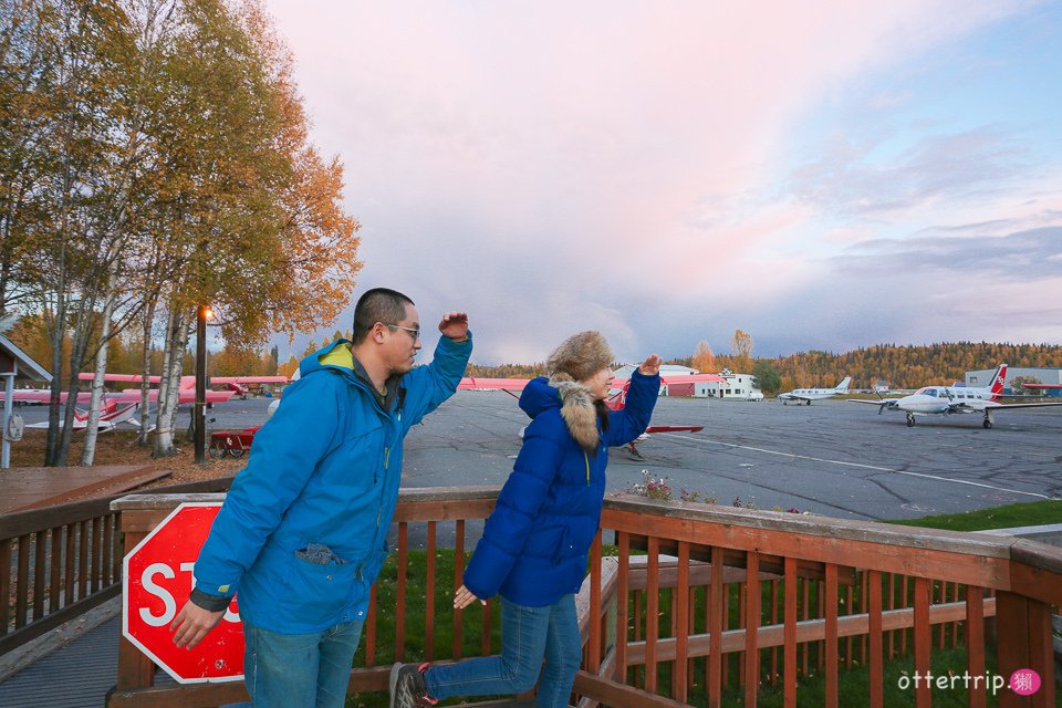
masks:
POLYGON ((243 680, 254 708, 343 708, 362 620, 279 634, 243 623, 243 680))

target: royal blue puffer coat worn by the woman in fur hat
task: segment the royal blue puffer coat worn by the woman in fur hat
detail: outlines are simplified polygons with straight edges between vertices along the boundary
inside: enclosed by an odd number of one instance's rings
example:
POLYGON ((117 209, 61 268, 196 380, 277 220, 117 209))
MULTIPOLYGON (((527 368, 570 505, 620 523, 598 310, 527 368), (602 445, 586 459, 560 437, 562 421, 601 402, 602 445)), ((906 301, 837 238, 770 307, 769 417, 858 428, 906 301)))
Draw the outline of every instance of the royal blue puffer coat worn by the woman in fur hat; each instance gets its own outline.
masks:
POLYGON ((659 376, 635 372, 626 407, 610 412, 607 431, 598 425, 596 454, 587 455, 561 415, 558 389, 545 378, 524 387, 520 407, 533 420, 465 570, 468 590, 481 598, 500 593, 531 607, 579 591, 601 521, 608 447, 645 431, 659 389, 659 376))

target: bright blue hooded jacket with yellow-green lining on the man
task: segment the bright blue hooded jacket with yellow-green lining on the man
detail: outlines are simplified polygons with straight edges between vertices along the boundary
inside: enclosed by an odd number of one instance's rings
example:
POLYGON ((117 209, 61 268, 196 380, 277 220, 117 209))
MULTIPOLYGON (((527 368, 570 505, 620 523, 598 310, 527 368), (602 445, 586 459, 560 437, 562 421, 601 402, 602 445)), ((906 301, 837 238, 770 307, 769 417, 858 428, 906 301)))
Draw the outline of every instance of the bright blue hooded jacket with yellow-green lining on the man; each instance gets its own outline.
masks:
POLYGON ((354 375, 350 342, 300 364, 300 378, 256 434, 196 561, 196 589, 239 592, 241 616, 282 634, 364 618, 387 556, 403 438, 454 395, 471 354, 440 337, 402 377, 389 410, 354 375))

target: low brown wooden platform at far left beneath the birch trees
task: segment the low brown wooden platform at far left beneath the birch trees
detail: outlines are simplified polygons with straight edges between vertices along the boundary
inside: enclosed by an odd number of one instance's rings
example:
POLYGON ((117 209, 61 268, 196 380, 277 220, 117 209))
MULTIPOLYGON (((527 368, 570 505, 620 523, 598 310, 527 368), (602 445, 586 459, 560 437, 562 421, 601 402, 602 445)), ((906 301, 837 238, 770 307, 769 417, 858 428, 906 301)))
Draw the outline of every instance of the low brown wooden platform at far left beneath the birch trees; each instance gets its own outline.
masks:
POLYGON ((169 473, 145 465, 14 467, 0 471, 0 513, 108 497, 169 473))

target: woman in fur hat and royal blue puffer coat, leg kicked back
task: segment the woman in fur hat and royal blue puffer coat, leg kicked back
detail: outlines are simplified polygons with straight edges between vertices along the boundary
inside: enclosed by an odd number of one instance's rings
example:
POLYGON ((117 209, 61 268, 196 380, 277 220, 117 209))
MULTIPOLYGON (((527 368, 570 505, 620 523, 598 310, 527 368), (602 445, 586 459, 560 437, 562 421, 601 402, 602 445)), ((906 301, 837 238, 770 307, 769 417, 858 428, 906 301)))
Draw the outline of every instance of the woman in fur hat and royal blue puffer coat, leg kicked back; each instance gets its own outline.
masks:
POLYGON ((575 593, 601 521, 608 448, 645 431, 660 388, 654 354, 633 374, 626 407, 610 410, 613 361, 601 333, 572 335, 550 355, 550 377, 520 396, 532 420, 454 598, 460 608, 500 595, 501 655, 395 664, 392 708, 520 694, 537 683, 539 708, 568 706, 582 658, 575 593))

